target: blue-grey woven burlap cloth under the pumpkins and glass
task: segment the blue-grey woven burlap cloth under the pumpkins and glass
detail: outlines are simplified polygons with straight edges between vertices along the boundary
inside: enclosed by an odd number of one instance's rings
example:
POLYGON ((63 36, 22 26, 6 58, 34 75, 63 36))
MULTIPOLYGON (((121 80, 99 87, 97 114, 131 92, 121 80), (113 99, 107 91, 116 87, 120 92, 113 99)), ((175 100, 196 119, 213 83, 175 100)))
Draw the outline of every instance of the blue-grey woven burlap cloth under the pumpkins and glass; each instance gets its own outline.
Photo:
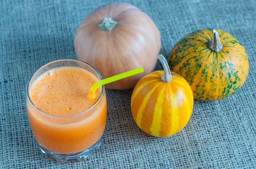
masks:
MULTIPOLYGON (((132 90, 107 90, 102 146, 86 161, 58 163, 36 146, 26 113, 29 76, 47 62, 76 59, 79 23, 106 0, 0 0, 0 168, 256 168, 256 0, 128 0, 156 23, 166 57, 176 42, 219 28, 244 45, 244 86, 221 101, 195 101, 189 123, 155 138, 135 124, 132 90)), ((157 69, 162 69, 160 63, 157 69)))

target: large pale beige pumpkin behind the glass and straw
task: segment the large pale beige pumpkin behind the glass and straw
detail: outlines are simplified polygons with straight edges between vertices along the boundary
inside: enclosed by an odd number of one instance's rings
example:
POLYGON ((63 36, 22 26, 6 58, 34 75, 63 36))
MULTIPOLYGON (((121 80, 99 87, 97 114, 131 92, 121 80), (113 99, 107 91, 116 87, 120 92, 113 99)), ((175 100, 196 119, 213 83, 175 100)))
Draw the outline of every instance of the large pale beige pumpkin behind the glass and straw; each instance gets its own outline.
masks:
POLYGON ((128 3, 108 3, 95 9, 76 31, 78 59, 93 65, 103 78, 143 67, 143 73, 106 85, 111 89, 132 88, 154 71, 160 48, 157 26, 128 3))

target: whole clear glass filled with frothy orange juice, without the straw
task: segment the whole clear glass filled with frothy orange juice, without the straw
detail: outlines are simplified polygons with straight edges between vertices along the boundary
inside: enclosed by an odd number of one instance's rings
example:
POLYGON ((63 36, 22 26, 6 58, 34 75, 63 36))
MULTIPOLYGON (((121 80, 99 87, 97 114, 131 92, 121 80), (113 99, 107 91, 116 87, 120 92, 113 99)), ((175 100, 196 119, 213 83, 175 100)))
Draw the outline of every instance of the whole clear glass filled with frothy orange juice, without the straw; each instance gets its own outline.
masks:
POLYGON ((73 59, 50 62, 29 79, 29 123, 43 153, 57 161, 83 160, 102 142, 107 101, 104 86, 93 99, 90 87, 102 80, 93 66, 73 59))

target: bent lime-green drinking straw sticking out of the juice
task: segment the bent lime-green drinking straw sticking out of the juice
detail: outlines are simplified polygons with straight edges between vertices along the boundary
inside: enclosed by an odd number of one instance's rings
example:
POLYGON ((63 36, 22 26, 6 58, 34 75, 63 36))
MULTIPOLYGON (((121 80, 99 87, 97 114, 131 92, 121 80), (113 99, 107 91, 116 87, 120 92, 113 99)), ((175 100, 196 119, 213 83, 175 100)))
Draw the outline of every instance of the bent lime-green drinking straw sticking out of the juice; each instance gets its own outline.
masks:
POLYGON ((102 79, 102 80, 100 80, 100 81, 98 81, 98 82, 96 82, 92 85, 92 87, 90 88, 88 96, 89 96, 90 99, 92 99, 93 96, 94 96, 95 91, 100 86, 106 85, 108 83, 111 83, 111 82, 114 82, 114 81, 117 81, 117 80, 120 80, 120 79, 124 79, 124 78, 129 77, 129 76, 136 75, 136 74, 141 73, 141 72, 144 72, 143 67, 136 68, 136 69, 133 69, 133 70, 130 70, 130 71, 112 76, 112 77, 108 77, 106 79, 102 79))

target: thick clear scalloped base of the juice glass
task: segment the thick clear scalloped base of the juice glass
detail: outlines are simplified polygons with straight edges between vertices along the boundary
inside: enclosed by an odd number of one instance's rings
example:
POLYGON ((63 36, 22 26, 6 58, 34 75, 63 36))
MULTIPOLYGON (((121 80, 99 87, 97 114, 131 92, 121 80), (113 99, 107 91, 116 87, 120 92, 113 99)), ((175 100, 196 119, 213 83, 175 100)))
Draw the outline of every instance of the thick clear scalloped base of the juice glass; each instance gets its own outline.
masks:
POLYGON ((79 161, 85 160, 88 157, 88 155, 90 154, 90 152, 99 148, 99 146, 102 143, 102 138, 103 138, 103 135, 95 144, 90 146, 88 149, 86 149, 82 152, 72 153, 72 154, 58 154, 55 152, 51 152, 50 150, 41 146, 41 144, 39 144, 38 142, 37 143, 38 143, 39 148, 41 149, 41 152, 43 152, 44 154, 50 155, 51 157, 55 158, 55 160, 58 162, 65 163, 68 160, 79 160, 79 161))

